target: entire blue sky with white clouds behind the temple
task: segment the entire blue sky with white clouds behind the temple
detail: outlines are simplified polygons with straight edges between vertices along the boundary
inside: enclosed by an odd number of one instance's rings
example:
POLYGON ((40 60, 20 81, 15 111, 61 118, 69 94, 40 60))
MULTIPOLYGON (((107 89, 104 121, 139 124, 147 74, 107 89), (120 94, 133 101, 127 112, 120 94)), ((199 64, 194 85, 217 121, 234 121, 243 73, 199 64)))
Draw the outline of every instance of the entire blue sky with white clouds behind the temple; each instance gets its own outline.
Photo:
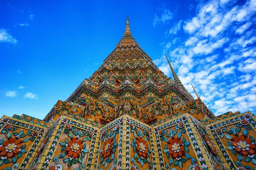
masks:
POLYGON ((0 116, 43 119, 133 37, 216 115, 256 108, 256 0, 0 1, 0 116))

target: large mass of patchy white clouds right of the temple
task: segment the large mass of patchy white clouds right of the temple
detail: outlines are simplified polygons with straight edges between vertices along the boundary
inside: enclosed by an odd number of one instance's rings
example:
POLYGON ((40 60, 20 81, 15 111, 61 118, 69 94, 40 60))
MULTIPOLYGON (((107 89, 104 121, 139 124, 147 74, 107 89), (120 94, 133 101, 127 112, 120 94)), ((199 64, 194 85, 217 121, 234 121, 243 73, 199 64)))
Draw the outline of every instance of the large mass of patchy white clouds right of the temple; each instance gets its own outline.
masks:
MULTIPOLYGON (((237 5, 229 0, 202 1, 194 16, 183 18, 185 40, 163 45, 163 54, 171 56, 185 88, 195 96, 192 82, 216 115, 256 111, 255 14, 255 0, 237 5)), ((176 28, 169 30, 175 34, 176 28)), ((154 62, 171 76, 164 56, 154 62)))

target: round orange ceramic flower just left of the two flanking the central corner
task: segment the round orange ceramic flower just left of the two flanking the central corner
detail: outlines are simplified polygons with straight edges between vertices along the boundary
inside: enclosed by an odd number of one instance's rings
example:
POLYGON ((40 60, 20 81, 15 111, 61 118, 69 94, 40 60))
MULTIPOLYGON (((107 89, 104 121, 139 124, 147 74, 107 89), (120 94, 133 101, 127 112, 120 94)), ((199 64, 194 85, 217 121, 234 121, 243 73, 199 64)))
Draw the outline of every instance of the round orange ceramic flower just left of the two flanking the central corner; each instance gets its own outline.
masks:
POLYGON ((68 155, 73 156, 76 158, 78 154, 80 153, 81 149, 84 147, 81 140, 76 140, 76 138, 73 138, 72 141, 68 142, 68 155))

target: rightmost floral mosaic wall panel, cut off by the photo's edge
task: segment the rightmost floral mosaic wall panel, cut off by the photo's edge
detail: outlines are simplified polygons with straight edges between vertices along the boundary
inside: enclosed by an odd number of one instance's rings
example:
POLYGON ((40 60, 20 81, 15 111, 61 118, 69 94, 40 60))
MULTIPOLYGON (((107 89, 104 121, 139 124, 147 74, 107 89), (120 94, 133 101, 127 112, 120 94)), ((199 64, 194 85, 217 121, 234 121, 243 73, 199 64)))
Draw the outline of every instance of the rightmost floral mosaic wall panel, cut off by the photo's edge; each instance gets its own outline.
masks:
POLYGON ((209 125, 209 130, 215 136, 221 152, 232 169, 253 170, 256 165, 254 144, 256 132, 251 125, 255 127, 256 123, 250 114, 217 125, 209 125), (232 123, 235 125, 230 125, 232 123))

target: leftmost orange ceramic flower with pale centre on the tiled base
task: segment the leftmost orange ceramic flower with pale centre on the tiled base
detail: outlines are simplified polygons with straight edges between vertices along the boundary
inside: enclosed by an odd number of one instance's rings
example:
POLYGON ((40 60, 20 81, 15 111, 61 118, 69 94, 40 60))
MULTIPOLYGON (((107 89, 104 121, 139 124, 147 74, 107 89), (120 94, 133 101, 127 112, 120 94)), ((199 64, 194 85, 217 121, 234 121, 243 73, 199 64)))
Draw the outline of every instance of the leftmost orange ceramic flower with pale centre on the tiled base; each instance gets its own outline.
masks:
POLYGON ((8 158, 12 157, 13 154, 18 153, 19 148, 22 147, 20 142, 20 139, 15 140, 14 138, 9 139, 9 142, 4 141, 3 146, 0 147, 0 155, 5 156, 7 154, 8 158))

